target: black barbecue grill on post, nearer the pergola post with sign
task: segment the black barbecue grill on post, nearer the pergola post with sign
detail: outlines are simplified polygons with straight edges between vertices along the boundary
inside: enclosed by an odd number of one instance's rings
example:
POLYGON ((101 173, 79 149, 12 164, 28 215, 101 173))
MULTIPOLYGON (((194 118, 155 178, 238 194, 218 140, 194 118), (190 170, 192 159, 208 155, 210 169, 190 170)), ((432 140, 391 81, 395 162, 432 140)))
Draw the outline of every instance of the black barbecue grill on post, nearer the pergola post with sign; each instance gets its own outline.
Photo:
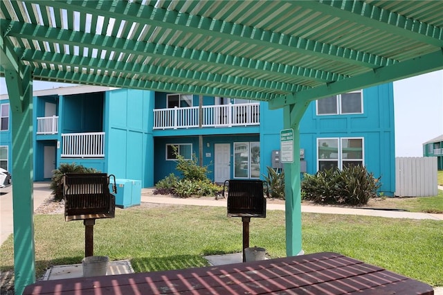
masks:
POLYGON ((266 217, 266 199, 263 194, 263 185, 266 181, 230 179, 224 182, 223 191, 226 182, 228 182, 228 217, 242 217, 243 262, 245 262, 244 249, 249 247, 251 217, 266 217))

